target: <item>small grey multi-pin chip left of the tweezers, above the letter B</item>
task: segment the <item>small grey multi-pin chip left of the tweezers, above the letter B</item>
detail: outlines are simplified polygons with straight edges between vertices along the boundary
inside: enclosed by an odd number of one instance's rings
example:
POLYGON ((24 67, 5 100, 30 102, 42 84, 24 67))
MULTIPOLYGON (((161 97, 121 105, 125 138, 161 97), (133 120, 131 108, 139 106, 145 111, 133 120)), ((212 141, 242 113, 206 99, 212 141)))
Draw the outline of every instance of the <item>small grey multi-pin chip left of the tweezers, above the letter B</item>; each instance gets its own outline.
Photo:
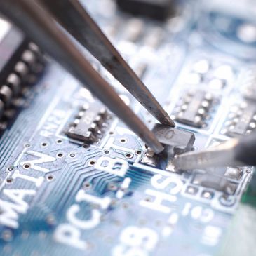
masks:
POLYGON ((67 131, 67 136, 81 142, 97 142, 106 119, 107 110, 99 102, 83 105, 67 131))

